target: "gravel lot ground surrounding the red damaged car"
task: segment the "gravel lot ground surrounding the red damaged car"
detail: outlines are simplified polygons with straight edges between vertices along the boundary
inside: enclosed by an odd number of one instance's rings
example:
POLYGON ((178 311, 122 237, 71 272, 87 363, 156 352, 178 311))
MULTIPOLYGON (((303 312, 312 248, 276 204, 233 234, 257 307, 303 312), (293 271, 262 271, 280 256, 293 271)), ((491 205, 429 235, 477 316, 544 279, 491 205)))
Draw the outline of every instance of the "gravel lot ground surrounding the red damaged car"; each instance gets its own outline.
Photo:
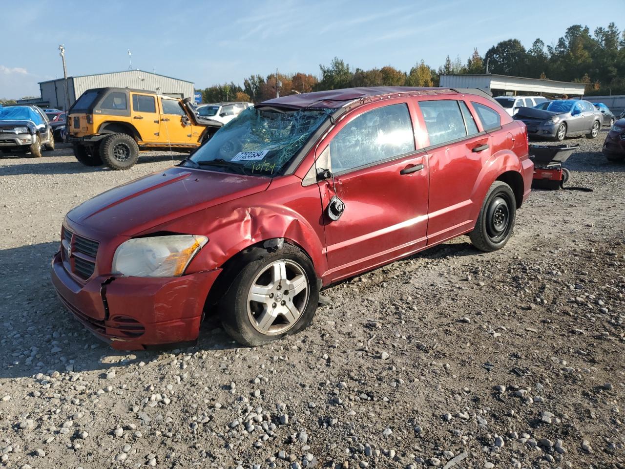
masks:
MULTIPOLYGON (((605 133, 605 131, 604 131, 605 133)), ((0 159, 0 461, 11 468, 625 466, 624 164, 604 133, 534 191, 506 248, 466 237, 345 281, 311 327, 119 353, 49 282, 64 214, 183 155, 0 159)))

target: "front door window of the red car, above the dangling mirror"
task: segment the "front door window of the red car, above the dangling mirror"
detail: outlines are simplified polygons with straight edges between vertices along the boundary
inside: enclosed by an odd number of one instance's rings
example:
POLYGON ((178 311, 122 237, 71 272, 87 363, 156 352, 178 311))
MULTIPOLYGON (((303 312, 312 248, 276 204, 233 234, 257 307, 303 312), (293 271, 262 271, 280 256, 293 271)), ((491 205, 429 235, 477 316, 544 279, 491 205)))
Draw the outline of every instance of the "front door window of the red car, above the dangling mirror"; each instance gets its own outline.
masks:
POLYGON ((406 104, 372 109, 347 123, 330 143, 332 171, 375 164, 415 150, 406 104))

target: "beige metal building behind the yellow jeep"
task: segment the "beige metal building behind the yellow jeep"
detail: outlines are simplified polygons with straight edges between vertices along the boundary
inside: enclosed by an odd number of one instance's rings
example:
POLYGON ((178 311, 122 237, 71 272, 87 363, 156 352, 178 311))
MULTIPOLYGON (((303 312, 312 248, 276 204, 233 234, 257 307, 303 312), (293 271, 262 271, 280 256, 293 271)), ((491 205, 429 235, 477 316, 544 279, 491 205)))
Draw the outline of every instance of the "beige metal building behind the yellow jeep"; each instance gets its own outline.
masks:
MULTIPOLYGON (((123 72, 102 73, 98 75, 82 75, 68 77, 69 105, 91 88, 133 88, 156 91, 176 98, 193 98, 195 88, 192 81, 171 78, 143 70, 127 70, 123 72)), ((39 83, 41 100, 37 104, 50 108, 65 108, 63 78, 42 81, 39 83)))

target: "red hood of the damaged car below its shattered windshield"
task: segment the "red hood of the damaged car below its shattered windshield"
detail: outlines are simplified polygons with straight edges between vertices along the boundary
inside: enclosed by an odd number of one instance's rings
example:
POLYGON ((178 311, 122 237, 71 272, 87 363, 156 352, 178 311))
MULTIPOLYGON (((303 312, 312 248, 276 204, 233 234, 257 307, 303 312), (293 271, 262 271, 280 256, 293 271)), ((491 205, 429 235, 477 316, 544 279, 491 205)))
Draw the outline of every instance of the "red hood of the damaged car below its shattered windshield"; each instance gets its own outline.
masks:
POLYGON ((111 235, 146 229, 224 201, 255 194, 271 179, 174 166, 110 189, 73 208, 76 224, 111 235))

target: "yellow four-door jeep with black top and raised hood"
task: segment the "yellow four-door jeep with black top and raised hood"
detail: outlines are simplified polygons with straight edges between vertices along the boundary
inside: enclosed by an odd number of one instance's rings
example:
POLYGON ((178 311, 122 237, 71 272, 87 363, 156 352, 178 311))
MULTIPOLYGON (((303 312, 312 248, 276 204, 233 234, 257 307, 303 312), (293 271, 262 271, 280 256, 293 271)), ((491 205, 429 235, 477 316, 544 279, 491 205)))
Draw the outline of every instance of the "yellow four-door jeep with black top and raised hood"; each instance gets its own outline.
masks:
POLYGON ((191 151, 223 125, 197 116, 190 101, 128 88, 88 89, 69 109, 68 140, 87 166, 131 168, 139 151, 191 151))

